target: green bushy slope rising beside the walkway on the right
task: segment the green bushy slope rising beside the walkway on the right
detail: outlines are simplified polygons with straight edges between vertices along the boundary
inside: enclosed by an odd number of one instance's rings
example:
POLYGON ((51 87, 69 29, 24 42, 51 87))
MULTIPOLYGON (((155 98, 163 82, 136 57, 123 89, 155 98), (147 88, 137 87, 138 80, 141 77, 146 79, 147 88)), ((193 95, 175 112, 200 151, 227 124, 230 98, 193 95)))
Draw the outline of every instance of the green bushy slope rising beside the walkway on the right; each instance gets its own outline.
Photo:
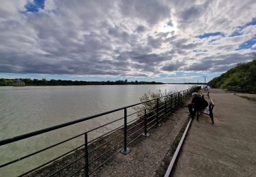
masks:
POLYGON ((248 63, 238 63, 208 82, 212 88, 227 88, 227 86, 240 86, 243 92, 256 93, 256 54, 255 59, 248 63))

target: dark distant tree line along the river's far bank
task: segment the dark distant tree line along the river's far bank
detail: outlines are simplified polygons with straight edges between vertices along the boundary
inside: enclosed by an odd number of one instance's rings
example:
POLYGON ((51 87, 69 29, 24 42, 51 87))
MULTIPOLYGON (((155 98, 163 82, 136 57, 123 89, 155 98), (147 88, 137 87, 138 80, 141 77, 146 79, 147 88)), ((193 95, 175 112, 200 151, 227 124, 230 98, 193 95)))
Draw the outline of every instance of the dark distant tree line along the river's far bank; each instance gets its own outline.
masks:
MULTIPOLYGON (((128 81, 128 80, 116 80, 116 81, 81 81, 81 80, 38 80, 30 78, 18 78, 25 82, 27 86, 57 86, 57 85, 126 85, 126 84, 163 84, 162 82, 145 82, 145 81, 128 81)), ((0 79, 0 86, 12 86, 14 79, 0 79)))

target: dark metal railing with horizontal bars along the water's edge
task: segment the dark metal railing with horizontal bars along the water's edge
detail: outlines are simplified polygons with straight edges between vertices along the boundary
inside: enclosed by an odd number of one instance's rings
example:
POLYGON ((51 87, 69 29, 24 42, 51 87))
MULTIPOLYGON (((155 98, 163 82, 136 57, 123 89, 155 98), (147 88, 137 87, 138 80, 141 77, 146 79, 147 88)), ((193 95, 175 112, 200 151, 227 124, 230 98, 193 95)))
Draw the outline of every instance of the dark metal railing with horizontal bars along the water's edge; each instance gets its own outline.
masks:
MULTIPOLYGON (((198 88, 194 88, 194 89, 198 89, 198 88)), ((74 125, 74 124, 76 124, 76 123, 81 123, 81 122, 83 122, 83 121, 85 121, 85 120, 89 120, 89 119, 91 119, 91 118, 97 118, 97 117, 99 117, 99 116, 104 116, 104 115, 106 115, 106 114, 111 114, 111 113, 113 113, 113 112, 117 112, 117 111, 120 111, 120 110, 124 110, 124 117, 122 117, 122 118, 118 118, 117 120, 113 120, 113 121, 111 121, 111 122, 109 122, 109 123, 106 123, 106 124, 104 124, 104 125, 100 125, 99 127, 96 127, 96 128, 91 129, 91 130, 89 130, 89 131, 85 131, 84 133, 81 133, 81 134, 79 134, 79 135, 76 135, 76 136, 74 136, 74 137, 72 137, 72 138, 68 138, 67 140, 63 140, 63 141, 61 141, 61 142, 58 142, 58 143, 53 144, 53 145, 51 145, 51 146, 48 146, 48 147, 46 147, 46 148, 42 148, 41 150, 38 150, 38 151, 36 151, 36 152, 32 152, 32 153, 29 154, 29 155, 25 155, 25 156, 20 157, 20 158, 18 158, 18 159, 12 160, 12 161, 10 161, 10 162, 8 162, 8 163, 4 163, 4 164, 0 165, 0 167, 4 167, 4 166, 6 166, 6 165, 10 165, 10 164, 12 164, 12 163, 15 163, 15 162, 17 162, 17 161, 20 161, 20 160, 22 160, 22 159, 25 159, 25 158, 27 158, 27 157, 31 157, 32 155, 38 154, 39 152, 42 152, 42 151, 47 150, 47 149, 49 149, 49 148, 53 148, 53 147, 55 147, 55 146, 57 146, 57 145, 59 145, 59 144, 63 144, 64 142, 68 142, 69 140, 72 140, 72 139, 74 139, 74 138, 78 138, 78 137, 81 136, 81 135, 85 135, 85 144, 82 144, 81 146, 76 147, 76 148, 74 148, 73 150, 70 150, 70 151, 64 153, 63 155, 60 155, 59 157, 57 157, 57 158, 55 158, 55 159, 52 159, 51 161, 48 161, 48 162, 44 163, 43 165, 40 165, 40 166, 38 166, 38 167, 35 167, 35 168, 33 168, 33 170, 29 170, 28 172, 25 172, 24 174, 21 174, 21 176, 23 176, 23 175, 25 175, 25 174, 29 174, 29 173, 31 173, 31 172, 34 172, 35 170, 38 170, 39 168, 44 167, 45 165, 47 165, 47 164, 49 164, 49 163, 51 163, 51 162, 53 162, 53 161, 55 161, 55 160, 57 160, 57 159, 63 157, 64 155, 68 155, 70 152, 73 152, 74 150, 79 150, 79 149, 83 148, 83 146, 85 146, 85 155, 84 155, 83 157, 85 157, 85 164, 87 164, 87 165, 85 165, 85 176, 89 176, 89 174, 95 172, 95 170, 94 170, 93 172, 89 173, 89 168, 88 168, 88 167, 89 167, 89 165, 90 165, 91 163, 93 163, 94 161, 100 159, 100 157, 103 157, 104 155, 106 155, 106 153, 111 152, 111 150, 113 150, 115 147, 117 147, 117 146, 118 146, 119 144, 121 144, 122 142, 124 142, 124 148, 122 148, 122 149, 123 149, 122 151, 124 151, 124 153, 130 152, 129 149, 127 148, 127 146, 128 146, 129 144, 131 144, 132 142, 134 142, 135 140, 138 140, 139 137, 140 137, 142 134, 139 133, 139 135, 137 135, 136 138, 134 138, 133 140, 129 140, 128 143, 127 143, 127 139, 128 139, 128 138, 131 138, 132 135, 135 135, 136 133, 138 133, 139 131, 141 131, 143 128, 144 128, 144 133, 145 133, 145 135, 147 135, 147 131, 150 130, 150 129, 152 129, 152 127, 154 127, 154 125, 158 124, 159 121, 162 120, 161 117, 162 117, 163 114, 166 114, 166 115, 167 115, 167 112, 169 112, 169 111, 170 111, 170 112, 173 112, 173 108, 177 108, 177 106, 180 105, 180 101, 182 101, 182 100, 184 100, 184 99, 188 99, 188 95, 192 92, 191 90, 192 90, 192 89, 189 88, 189 89, 184 90, 184 91, 179 91, 179 92, 177 92, 177 93, 172 93, 172 94, 169 94, 169 95, 164 95, 164 96, 161 96, 161 97, 158 97, 158 98, 155 98, 155 99, 150 99, 150 100, 147 100, 147 101, 143 101, 143 102, 141 102, 141 103, 135 103, 135 104, 132 104, 132 105, 130 105, 130 106, 125 106, 125 107, 122 107, 122 108, 117 108, 117 109, 115 109, 115 110, 110 110, 110 111, 107 111, 107 112, 102 112, 102 113, 100 113, 100 114, 96 114, 96 115, 93 115, 93 116, 87 116, 87 117, 85 117, 85 118, 81 118, 81 119, 78 119, 78 120, 72 120, 72 121, 70 121, 70 122, 68 122, 68 123, 62 123, 62 124, 59 124, 59 125, 55 125, 55 126, 53 126, 53 127, 48 127, 48 128, 46 128, 46 129, 40 129, 40 130, 38 130, 38 131, 33 131, 33 132, 30 132, 30 133, 25 133, 25 134, 23 134, 23 135, 18 135, 18 136, 14 137, 14 138, 8 138, 8 139, 5 139, 5 140, 1 140, 1 141, 0 141, 0 146, 3 146, 3 145, 5 145, 5 144, 10 144, 10 143, 12 143, 12 142, 17 142, 17 141, 19 141, 19 140, 23 140, 23 139, 26 139, 26 138, 30 138, 30 137, 33 137, 33 136, 35 136, 35 135, 40 135, 40 134, 46 133, 46 132, 48 132, 48 131, 53 131, 53 130, 55 130, 55 129, 60 129, 60 128, 62 128, 62 127, 67 127, 67 126, 69 126, 69 125, 74 125), (183 94, 182 94, 182 93, 183 93, 183 94), (186 93, 186 94, 185 94, 185 93, 186 93), (165 100, 164 100, 164 102, 160 102, 160 103, 159 103, 159 101, 160 101, 161 98, 165 98, 165 100), (155 101, 155 100, 156 100, 156 105, 153 105, 153 106, 150 106, 150 107, 147 107, 147 108, 143 108, 143 109, 141 109, 141 110, 139 110, 139 111, 137 111, 137 112, 133 112, 132 114, 128 114, 128 115, 127 115, 127 108, 132 108, 132 107, 134 107, 134 106, 138 106, 138 105, 141 105, 141 104, 143 104, 143 103, 147 103, 147 102, 155 101), (168 101, 168 100, 169 100, 169 101, 168 101), (164 107, 164 108, 163 108, 162 110, 160 110, 159 108, 162 108, 162 107, 164 107), (170 107, 171 107, 171 108, 170 108, 170 107), (169 109, 169 108, 170 108, 170 109, 169 109), (139 116, 139 112, 142 112, 143 110, 144 110, 144 112, 145 112, 144 115, 143 115, 143 116, 139 116), (146 112, 146 110, 149 110, 149 111, 146 112), (152 114, 152 113, 154 113, 154 114, 152 114), (160 114, 160 113, 161 113, 161 114, 160 114), (132 115, 134 115, 134 114, 137 114, 139 117, 135 118, 134 120, 131 120, 130 122, 127 122, 128 116, 132 116, 132 115), (151 116, 147 117, 147 115, 151 115, 151 116), (153 120, 151 120, 151 118, 152 118, 153 116, 154 116, 154 118, 153 118, 153 120), (127 125, 128 125, 128 124, 130 124, 130 123, 132 123, 132 122, 134 122, 134 121, 136 121, 136 120, 139 120, 140 118, 143 118, 143 117, 144 117, 144 120, 143 120, 143 121, 141 121, 140 123, 137 123, 136 125, 132 125, 131 127, 129 127, 129 129, 127 129, 127 125), (100 135, 100 136, 98 136, 97 138, 94 138, 93 140, 90 140, 89 142, 87 141, 87 133, 89 133, 89 132, 91 132, 91 131, 94 131, 94 130, 96 130, 96 129, 99 129, 99 128, 101 128, 101 127, 104 127, 104 126, 106 126, 106 125, 109 125, 109 124, 111 124, 111 123, 115 123, 115 122, 117 122, 118 120, 122 120, 122 119, 124 119, 124 125, 119 126, 119 127, 115 128, 115 129, 113 129, 113 130, 111 130, 111 131, 108 131, 107 133, 104 133, 103 135, 100 135), (147 123, 147 120, 150 120, 150 123, 147 123), (152 125, 151 127, 147 128, 147 125, 152 124, 154 121, 155 121, 156 123, 154 123, 154 125, 152 125), (143 127, 143 126, 141 127, 141 123, 144 123, 144 127, 143 127), (127 136, 127 131, 130 131, 131 129, 133 129, 134 127, 137 127, 138 125, 140 125, 140 126, 139 126, 139 129, 135 130, 133 133, 130 132, 131 134, 130 134, 129 136, 127 136), (108 141, 105 142, 104 144, 101 144, 100 146, 94 148, 94 150, 89 151, 89 153, 88 153, 88 144, 91 144, 91 142, 94 142, 94 141, 96 141, 96 140, 98 140, 98 139, 100 139, 100 138, 102 138, 102 137, 104 137, 104 136, 106 136, 106 135, 109 135, 109 134, 112 133, 113 131, 118 131, 119 129, 122 129, 122 127, 124 127, 124 131, 123 131, 122 133, 119 133, 119 134, 118 134, 117 136, 115 136, 114 138, 111 138, 110 140, 108 140, 108 141), (92 161, 89 162, 88 155, 89 155, 91 152, 95 152, 96 150, 98 150, 98 148, 101 148, 101 147, 104 146, 105 144, 108 144, 109 142, 111 142, 111 141, 113 141, 113 140, 119 138, 119 137, 120 137, 121 135, 123 135, 123 134, 124 134, 124 140, 122 140, 122 141, 119 142, 118 144, 115 144, 115 146, 113 146, 111 149, 106 150, 103 154, 99 155, 99 156, 96 157, 94 160, 92 160, 92 161), (127 151, 127 150, 128 150, 128 151, 127 151)), ((153 103, 153 104, 154 104, 154 103, 153 103)), ((169 112, 169 113, 170 113, 170 112, 169 112)), ((169 113, 168 113, 168 114, 169 114, 169 113)), ((117 154, 117 153, 115 153, 115 155, 116 155, 116 154, 117 154)), ((115 156, 115 155, 113 155, 113 156, 115 156)), ((113 156, 112 156, 111 158, 113 158, 113 156)), ((79 158, 79 159, 82 159, 83 157, 81 157, 81 158, 79 158)), ((111 158, 109 158, 109 159, 111 159, 111 158)), ((108 160, 109 160, 109 159, 108 159, 108 160)), ((108 161, 108 160, 107 160, 107 161, 108 161)), ((78 160, 76 160, 76 161, 78 161, 78 160)), ((54 172, 54 174, 57 174, 57 172, 61 172, 62 170, 66 169, 66 167, 68 167, 69 165, 72 165, 72 164, 75 163, 76 161, 73 161, 73 162, 69 163, 68 165, 65 165, 64 167, 61 167, 61 169, 60 169, 60 170, 57 170, 56 172, 54 172)), ((104 164, 104 163, 102 163, 102 164, 104 164)), ((100 166, 101 166, 101 165, 100 165, 100 166)), ((100 166, 99 166, 99 167, 100 167, 100 166)), ((98 167, 97 167, 96 169, 98 169, 98 167)), ((81 170, 79 170, 78 172, 80 172, 80 171, 81 171, 81 170)), ((53 174, 50 174, 50 176, 51 176, 51 175, 53 175, 53 174)))

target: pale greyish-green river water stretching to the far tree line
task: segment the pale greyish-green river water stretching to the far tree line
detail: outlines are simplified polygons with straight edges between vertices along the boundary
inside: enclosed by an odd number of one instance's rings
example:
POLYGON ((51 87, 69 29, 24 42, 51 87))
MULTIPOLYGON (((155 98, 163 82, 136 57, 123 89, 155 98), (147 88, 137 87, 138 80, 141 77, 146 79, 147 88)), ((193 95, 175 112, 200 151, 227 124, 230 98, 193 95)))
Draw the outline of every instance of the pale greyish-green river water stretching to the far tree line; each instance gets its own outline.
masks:
MULTIPOLYGON (((139 103, 139 97, 144 93, 156 92, 159 89, 162 93, 182 91, 189 88, 189 86, 185 84, 3 86, 0 87, 0 140, 139 103)), ((128 110, 128 114, 132 111, 134 112, 134 110, 128 110)), ((110 120, 121 118, 123 114, 123 111, 115 112, 100 118, 87 120, 85 123, 0 146, 0 164, 27 155, 29 152, 51 146, 51 144, 98 127, 110 120)), ((88 134, 89 139, 95 138, 97 135, 118 125, 122 125, 122 122, 93 131, 88 134)), ((76 138, 51 150, 46 150, 14 163, 14 165, 2 167, 0 176, 14 176, 26 172, 81 144, 83 144, 83 137, 76 138)))

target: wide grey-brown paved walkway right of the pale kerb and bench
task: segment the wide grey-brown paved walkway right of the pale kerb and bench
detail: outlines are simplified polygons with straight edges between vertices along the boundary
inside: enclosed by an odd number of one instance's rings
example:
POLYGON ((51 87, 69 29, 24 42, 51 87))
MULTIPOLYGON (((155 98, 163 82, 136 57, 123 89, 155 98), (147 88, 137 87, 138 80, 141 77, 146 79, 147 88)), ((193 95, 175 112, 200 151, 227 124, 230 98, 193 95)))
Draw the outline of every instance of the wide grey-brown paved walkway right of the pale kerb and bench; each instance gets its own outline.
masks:
POLYGON ((173 176, 256 176, 256 103, 212 89, 214 125, 193 120, 173 176))

